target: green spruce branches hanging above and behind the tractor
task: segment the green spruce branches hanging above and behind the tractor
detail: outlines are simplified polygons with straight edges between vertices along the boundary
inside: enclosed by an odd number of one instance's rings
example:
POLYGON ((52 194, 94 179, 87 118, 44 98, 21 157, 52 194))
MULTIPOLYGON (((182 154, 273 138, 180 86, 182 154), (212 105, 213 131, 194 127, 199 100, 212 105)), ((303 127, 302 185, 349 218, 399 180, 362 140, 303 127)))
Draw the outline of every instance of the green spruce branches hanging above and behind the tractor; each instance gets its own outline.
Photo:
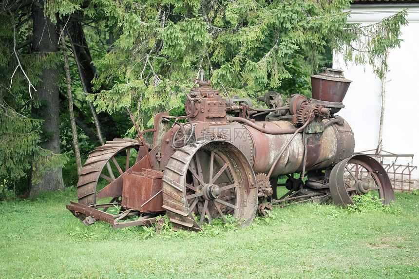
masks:
MULTIPOLYGON (((99 72, 96 87, 105 84, 110 89, 90 100, 99 111, 137 106, 137 116, 150 126, 153 115, 167 109, 167 100, 176 100, 169 107, 183 106, 178 97, 200 69, 209 70, 213 87, 221 89, 221 82, 229 93, 255 97, 278 90, 309 96, 308 75, 317 71, 318 61, 331 59, 331 49, 343 50, 346 59, 372 63, 382 57, 381 50, 400 45, 397 37, 405 12, 364 28, 346 23, 348 12, 342 10, 349 4, 349 0, 91 1, 85 13, 94 17, 90 12, 94 9, 98 16, 106 15, 109 28, 122 35, 94 62, 99 72), (362 40, 361 34, 375 36, 362 59, 351 50, 362 40), (158 91, 160 101, 153 99, 153 91, 158 91)), ((377 67, 385 67, 382 59, 378 62, 377 67)))

